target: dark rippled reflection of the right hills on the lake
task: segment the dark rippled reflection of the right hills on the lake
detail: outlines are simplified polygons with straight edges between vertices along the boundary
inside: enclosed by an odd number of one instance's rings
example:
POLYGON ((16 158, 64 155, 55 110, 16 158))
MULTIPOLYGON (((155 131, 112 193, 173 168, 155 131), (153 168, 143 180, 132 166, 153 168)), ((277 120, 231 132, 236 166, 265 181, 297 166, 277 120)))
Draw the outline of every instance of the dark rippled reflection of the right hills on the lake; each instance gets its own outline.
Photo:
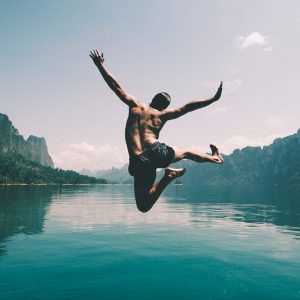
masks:
POLYGON ((182 186, 169 189, 167 194, 173 195, 168 202, 180 203, 182 199, 189 205, 195 222, 207 205, 208 210, 209 206, 218 207, 216 215, 220 218, 285 226, 300 235, 299 186, 182 186), (229 206, 232 209, 223 214, 222 209, 229 206))

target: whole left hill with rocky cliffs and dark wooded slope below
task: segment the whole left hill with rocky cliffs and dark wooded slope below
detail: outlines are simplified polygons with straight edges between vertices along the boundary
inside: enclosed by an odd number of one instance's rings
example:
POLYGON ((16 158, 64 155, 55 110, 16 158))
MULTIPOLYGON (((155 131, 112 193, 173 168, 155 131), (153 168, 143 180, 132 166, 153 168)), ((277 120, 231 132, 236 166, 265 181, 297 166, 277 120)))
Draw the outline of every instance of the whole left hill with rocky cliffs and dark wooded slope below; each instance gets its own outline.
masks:
POLYGON ((27 140, 11 121, 0 114, 0 184, 107 183, 104 179, 74 171, 53 169, 46 140, 31 135, 27 140))

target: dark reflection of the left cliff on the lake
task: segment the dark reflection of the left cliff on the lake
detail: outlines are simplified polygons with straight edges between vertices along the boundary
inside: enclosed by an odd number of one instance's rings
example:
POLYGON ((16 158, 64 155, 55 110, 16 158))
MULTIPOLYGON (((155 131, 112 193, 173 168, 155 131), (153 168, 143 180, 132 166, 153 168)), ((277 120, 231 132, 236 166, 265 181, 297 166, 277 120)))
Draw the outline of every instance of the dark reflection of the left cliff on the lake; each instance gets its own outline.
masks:
POLYGON ((5 252, 1 243, 15 234, 42 233, 45 215, 52 196, 52 187, 0 188, 0 255, 5 252))

